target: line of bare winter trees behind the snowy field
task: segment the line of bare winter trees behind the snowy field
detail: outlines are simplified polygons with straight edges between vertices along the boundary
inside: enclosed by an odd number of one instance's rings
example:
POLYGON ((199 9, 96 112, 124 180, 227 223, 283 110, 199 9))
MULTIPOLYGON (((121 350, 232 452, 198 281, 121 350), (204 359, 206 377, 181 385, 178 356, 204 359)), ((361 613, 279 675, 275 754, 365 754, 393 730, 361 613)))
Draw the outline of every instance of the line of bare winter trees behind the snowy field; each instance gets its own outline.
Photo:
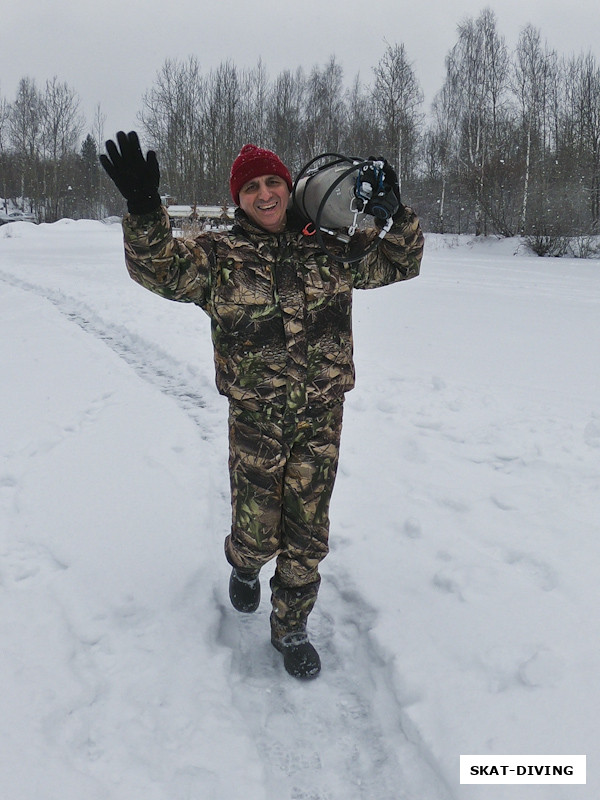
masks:
MULTIPOLYGON (((403 44, 386 44, 368 82, 346 82, 335 56, 274 78, 262 61, 203 72, 194 56, 167 59, 139 129, 161 191, 181 203, 230 202, 230 165, 254 142, 292 173, 321 152, 384 155, 429 231, 523 235, 540 251, 600 233, 595 57, 559 55, 532 25, 509 50, 488 8, 458 24, 445 67, 425 113, 403 44)), ((88 126, 79 106, 57 78, 43 89, 23 78, 12 103, 0 97, 0 196, 27 198, 41 220, 123 210, 98 166, 104 115, 88 126)))

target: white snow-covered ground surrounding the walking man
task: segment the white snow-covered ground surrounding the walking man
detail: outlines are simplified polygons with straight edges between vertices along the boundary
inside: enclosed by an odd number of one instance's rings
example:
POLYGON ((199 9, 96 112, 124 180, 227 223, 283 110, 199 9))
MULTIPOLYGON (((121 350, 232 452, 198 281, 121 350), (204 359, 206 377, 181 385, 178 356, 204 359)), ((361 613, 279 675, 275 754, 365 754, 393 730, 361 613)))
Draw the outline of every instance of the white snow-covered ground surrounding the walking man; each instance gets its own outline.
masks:
POLYGON ((207 317, 118 225, 0 228, 3 800, 600 796, 600 265, 427 237, 355 294, 331 553, 294 681, 227 599, 207 317), (586 754, 461 786, 460 754, 586 754))

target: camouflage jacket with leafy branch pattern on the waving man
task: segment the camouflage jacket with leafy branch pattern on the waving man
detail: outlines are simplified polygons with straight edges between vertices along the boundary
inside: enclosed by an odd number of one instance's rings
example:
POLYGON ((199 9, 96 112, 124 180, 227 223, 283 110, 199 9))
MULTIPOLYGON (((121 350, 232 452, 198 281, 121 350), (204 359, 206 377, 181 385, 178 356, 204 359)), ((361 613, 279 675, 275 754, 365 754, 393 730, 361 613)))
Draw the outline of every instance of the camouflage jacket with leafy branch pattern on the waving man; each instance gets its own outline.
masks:
POLYGON ((299 411, 340 402, 354 386, 352 290, 419 274, 423 234, 411 209, 354 264, 326 255, 302 224, 288 215, 283 233, 268 233, 237 209, 231 231, 179 239, 164 208, 123 220, 133 280, 207 312, 217 388, 248 406, 299 411))

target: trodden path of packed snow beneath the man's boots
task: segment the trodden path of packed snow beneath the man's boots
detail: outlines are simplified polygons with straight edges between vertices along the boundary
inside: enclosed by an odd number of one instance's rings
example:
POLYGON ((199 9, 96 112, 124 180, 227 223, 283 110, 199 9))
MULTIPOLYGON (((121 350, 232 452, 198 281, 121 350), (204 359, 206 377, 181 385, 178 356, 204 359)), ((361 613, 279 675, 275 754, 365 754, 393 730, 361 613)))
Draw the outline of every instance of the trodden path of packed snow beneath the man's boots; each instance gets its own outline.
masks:
POLYGON ((308 682, 290 678, 270 644, 268 596, 252 615, 230 607, 226 587, 215 602, 216 644, 231 650, 233 701, 263 754, 268 797, 451 797, 418 735, 404 732, 393 663, 371 635, 377 612, 349 580, 323 577, 309 620, 323 669, 308 682))

